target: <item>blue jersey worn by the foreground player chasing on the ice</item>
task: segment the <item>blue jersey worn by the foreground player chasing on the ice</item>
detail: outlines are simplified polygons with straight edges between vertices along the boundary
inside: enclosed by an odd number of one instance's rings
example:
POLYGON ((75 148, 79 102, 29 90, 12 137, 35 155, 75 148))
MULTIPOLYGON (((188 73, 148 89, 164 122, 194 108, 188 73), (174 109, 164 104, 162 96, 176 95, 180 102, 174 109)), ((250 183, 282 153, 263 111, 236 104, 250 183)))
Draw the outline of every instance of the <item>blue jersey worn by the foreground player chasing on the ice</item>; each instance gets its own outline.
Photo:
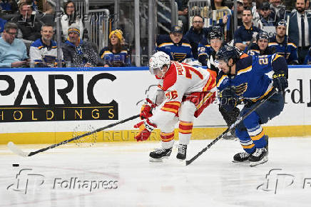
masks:
POLYGON ((287 74, 285 58, 277 54, 246 56, 237 61, 235 76, 228 76, 220 71, 217 88, 223 91, 229 86, 235 86, 238 96, 258 101, 272 90, 272 79, 267 76, 270 71, 285 71, 287 74))

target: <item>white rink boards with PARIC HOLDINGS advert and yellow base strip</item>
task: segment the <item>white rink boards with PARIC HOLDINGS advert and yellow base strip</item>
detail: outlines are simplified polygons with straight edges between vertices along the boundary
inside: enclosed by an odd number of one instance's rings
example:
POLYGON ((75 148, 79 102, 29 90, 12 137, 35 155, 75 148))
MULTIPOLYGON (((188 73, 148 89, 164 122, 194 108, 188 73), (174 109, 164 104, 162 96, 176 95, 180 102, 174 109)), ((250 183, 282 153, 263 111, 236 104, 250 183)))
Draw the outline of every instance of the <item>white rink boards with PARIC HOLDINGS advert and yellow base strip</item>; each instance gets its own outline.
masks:
MULTIPOLYGON (((148 68, 1 69, 0 144, 56 143, 139 113, 157 89, 148 68)), ((311 67, 290 66, 285 109, 265 124, 270 137, 311 135, 311 67)), ((133 141, 138 118, 97 133, 133 141)), ((193 139, 215 138, 225 122, 215 102, 194 122, 193 139)), ((176 131, 177 132, 177 131, 176 131)), ((178 133, 176 133, 178 134, 178 133)), ((151 140, 158 140, 155 131, 151 140)))

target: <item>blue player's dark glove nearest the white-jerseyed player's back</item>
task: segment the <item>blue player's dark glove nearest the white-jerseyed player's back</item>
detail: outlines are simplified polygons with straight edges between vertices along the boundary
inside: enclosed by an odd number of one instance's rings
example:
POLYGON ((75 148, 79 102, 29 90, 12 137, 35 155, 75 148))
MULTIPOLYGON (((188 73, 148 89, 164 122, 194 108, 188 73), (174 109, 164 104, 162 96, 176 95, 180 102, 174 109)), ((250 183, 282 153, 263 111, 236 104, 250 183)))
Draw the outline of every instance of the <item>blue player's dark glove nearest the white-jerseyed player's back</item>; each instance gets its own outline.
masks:
POLYGON ((230 112, 238 105, 239 97, 235 94, 235 87, 230 86, 220 91, 218 98, 220 100, 220 108, 230 112))

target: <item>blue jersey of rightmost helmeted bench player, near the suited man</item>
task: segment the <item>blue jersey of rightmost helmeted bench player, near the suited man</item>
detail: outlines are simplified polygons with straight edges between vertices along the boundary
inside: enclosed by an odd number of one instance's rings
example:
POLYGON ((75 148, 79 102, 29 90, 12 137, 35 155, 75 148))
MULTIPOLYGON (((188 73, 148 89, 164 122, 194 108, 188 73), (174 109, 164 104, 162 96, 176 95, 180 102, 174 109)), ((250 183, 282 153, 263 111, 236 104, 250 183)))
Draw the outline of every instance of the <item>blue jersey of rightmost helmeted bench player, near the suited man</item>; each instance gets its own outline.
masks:
POLYGON ((287 41, 287 37, 285 36, 282 43, 277 43, 276 37, 272 36, 270 38, 269 48, 275 48, 276 54, 285 56, 287 64, 298 64, 297 46, 290 38, 287 41))

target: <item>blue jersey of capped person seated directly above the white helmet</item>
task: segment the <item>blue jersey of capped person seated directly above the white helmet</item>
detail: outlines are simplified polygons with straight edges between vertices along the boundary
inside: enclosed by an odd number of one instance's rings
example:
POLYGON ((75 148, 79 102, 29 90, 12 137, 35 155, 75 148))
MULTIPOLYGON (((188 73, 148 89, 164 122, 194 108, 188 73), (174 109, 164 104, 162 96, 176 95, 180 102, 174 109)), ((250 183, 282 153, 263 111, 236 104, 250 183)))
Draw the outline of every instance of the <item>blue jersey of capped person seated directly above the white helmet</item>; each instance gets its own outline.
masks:
POLYGON ((170 60, 178 62, 193 57, 191 46, 187 39, 181 39, 178 44, 174 44, 168 35, 158 36, 155 51, 163 51, 170 56, 170 60))

